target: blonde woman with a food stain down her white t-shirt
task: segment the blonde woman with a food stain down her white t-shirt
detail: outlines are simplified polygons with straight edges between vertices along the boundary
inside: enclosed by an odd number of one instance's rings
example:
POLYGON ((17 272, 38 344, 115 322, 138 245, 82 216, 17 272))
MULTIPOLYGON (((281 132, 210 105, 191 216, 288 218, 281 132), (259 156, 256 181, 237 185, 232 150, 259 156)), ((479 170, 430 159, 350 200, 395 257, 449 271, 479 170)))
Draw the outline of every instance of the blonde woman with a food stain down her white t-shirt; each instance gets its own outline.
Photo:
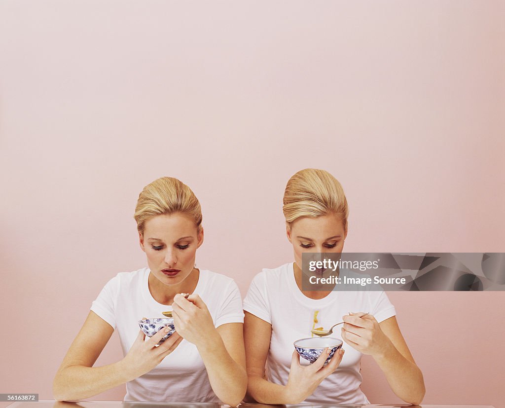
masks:
POLYGON ((349 210, 340 183, 326 171, 301 170, 289 179, 283 203, 294 262, 264 269, 244 299, 248 396, 267 404, 369 403, 360 389, 360 359, 370 354, 394 393, 419 404, 423 375, 384 292, 302 290, 302 253, 342 252, 349 210), (324 366, 324 352, 312 365, 300 362, 293 341, 309 337, 315 320, 329 327, 342 319, 336 336, 344 344, 330 362, 324 366))

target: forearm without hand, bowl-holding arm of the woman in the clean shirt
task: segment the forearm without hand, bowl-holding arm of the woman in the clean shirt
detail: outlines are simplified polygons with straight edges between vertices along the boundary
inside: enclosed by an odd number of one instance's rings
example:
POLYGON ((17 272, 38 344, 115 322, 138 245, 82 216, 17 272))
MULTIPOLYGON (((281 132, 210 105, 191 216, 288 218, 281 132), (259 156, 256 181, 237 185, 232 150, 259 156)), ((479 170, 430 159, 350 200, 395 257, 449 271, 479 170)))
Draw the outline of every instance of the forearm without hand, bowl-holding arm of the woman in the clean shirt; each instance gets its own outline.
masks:
POLYGON ((56 374, 53 394, 58 401, 84 399, 132 379, 122 362, 103 367, 69 366, 56 374))

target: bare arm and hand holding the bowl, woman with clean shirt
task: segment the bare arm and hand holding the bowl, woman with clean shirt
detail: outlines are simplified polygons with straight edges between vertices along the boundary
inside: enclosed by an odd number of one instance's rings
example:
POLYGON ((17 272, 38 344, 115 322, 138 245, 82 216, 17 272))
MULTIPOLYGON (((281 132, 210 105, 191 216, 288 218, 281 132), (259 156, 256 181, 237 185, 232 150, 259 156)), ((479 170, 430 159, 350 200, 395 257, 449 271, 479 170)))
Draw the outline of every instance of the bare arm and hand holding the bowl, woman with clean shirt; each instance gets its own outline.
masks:
POLYGON ((131 381, 158 365, 182 340, 174 333, 162 344, 163 347, 154 347, 164 336, 163 330, 145 344, 143 333, 139 332, 123 360, 107 366, 92 367, 113 332, 114 329, 105 320, 94 312, 89 312, 56 373, 53 382, 56 400, 88 398, 131 381), (167 342, 169 343, 165 345, 167 342))

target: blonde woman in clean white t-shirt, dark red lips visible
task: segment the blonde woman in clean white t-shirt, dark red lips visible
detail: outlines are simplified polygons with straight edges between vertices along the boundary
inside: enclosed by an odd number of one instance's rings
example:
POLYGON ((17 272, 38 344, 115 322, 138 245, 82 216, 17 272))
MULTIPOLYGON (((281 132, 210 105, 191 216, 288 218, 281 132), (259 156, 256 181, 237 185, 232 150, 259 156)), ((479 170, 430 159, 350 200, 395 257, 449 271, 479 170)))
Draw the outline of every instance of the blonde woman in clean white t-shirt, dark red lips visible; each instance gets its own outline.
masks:
POLYGON ((134 218, 148 268, 119 273, 93 301, 54 380, 55 398, 126 383, 125 400, 237 405, 247 383, 241 297, 232 279, 195 267, 204 241, 200 203, 188 186, 163 177, 142 190, 134 218), (146 339, 137 322, 170 309, 176 332, 156 346, 166 333, 146 339), (114 330, 124 358, 93 367, 114 330))

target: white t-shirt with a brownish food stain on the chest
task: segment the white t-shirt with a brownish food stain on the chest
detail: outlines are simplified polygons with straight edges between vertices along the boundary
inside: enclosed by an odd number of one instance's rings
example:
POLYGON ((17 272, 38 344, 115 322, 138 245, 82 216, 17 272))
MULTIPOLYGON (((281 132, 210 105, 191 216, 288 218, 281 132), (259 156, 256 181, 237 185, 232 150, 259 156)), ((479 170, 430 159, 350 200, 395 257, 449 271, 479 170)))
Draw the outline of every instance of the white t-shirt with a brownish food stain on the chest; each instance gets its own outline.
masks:
MULTIPOLYGON (((340 270, 340 274, 350 271, 340 270)), ((328 328, 342 321, 349 312, 370 313, 378 322, 395 316, 396 312, 383 291, 333 291, 323 299, 305 296, 296 285, 293 264, 276 269, 264 269, 252 280, 244 298, 244 310, 272 325, 270 350, 267 357, 268 379, 286 385, 291 367, 293 342, 311 337, 314 312, 316 327, 328 328)), ((337 329, 337 328, 335 328, 337 329)), ((333 332, 341 338, 340 330, 333 332)), ((346 342, 342 362, 337 370, 326 377, 304 402, 338 404, 369 403, 360 389, 361 352, 346 342)), ((300 357, 300 364, 309 362, 300 357)))

